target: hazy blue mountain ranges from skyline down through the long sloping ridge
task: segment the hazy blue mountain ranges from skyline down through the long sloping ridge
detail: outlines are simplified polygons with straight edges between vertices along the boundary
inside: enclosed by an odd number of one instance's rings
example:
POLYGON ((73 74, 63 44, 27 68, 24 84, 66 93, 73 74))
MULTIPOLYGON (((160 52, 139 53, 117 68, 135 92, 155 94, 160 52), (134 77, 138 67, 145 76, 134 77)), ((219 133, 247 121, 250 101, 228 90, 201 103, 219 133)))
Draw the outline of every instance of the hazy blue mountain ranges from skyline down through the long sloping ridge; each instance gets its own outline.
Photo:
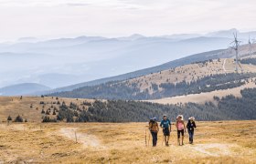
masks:
MULTIPOLYGON (((21 38, 16 43, 0 44, 0 87, 37 83, 56 88, 50 92, 66 91, 229 57, 233 54, 226 48, 235 31, 117 38, 80 36, 45 41, 21 38), (196 55, 188 56, 191 54, 196 55)), ((238 36, 246 44, 249 36, 256 37, 256 32, 238 32, 238 36)))

